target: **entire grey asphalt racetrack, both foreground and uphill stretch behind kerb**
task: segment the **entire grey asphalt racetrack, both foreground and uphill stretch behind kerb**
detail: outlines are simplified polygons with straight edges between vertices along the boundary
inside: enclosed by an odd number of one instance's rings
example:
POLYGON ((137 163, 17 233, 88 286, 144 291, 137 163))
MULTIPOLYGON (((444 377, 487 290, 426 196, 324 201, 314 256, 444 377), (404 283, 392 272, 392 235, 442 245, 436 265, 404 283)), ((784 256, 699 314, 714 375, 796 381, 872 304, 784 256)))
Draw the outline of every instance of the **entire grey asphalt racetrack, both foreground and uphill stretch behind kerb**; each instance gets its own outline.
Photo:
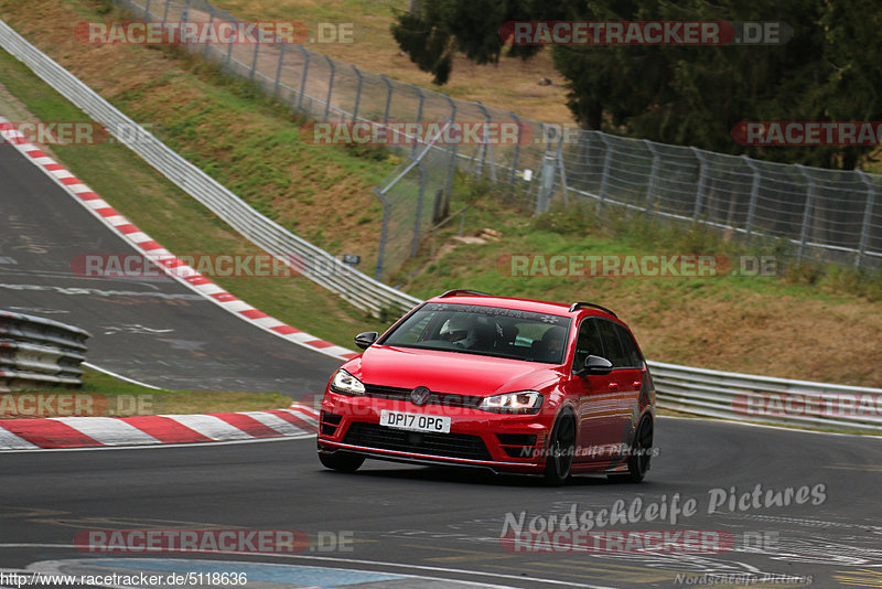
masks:
MULTIPOLYGON (((295 396, 320 389, 337 365, 170 279, 73 276, 75 255, 132 250, 8 147, 0 147, 0 307, 88 329, 94 363, 162 386, 295 396)), ((772 586, 766 575, 810 577, 815 587, 882 587, 882 440, 662 418, 656 443, 644 484, 584 476, 562 488, 383 462, 356 474, 329 472, 311 439, 0 453, 0 587, 17 586, 3 575, 23 569, 241 571, 252 589, 453 587, 454 580, 682 587, 708 585, 707 574, 742 575, 728 585, 716 578, 729 587, 772 586), (789 504, 767 503, 766 492, 789 504), (714 499, 722 504, 711 511, 714 499), (633 522, 600 523, 595 515, 620 500, 626 507, 642 502, 633 522), (687 502, 693 512, 650 521, 650 505, 670 513, 687 502), (594 522, 594 533, 698 531, 729 542, 704 554, 627 545, 603 553, 572 549, 564 538, 552 551, 528 544, 520 549, 538 551, 513 553, 501 535, 521 513, 539 528, 551 516, 560 527, 574 514, 594 522), (74 547, 77 533, 90 529, 205 528, 299 531, 311 544, 298 554, 223 555, 101 556, 74 547)))

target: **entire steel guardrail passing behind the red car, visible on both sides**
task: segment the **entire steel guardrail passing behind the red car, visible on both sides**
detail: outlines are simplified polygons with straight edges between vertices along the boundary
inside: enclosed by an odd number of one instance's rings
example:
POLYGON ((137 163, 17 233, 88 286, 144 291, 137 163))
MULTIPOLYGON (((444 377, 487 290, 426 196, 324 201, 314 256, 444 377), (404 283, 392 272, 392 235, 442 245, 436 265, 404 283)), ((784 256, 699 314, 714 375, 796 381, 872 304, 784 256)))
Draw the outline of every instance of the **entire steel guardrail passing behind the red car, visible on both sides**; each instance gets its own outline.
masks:
MULTIPOLYGON (((409 309, 421 302, 352 269, 254 211, 238 196, 138 127, 2 21, 0 46, 24 62, 50 86, 105 125, 129 149, 241 235, 283 261, 290 263, 299 256, 298 264, 302 267, 297 266, 297 269, 306 278, 372 313, 381 309, 409 309), (126 132, 116 133, 115 129, 123 129, 126 132), (137 132, 131 132, 133 129, 137 132)), ((656 381, 659 406, 664 408, 761 424, 848 427, 875 431, 882 426, 879 417, 882 415, 882 389, 787 381, 659 362, 648 364, 656 381), (796 406, 799 403, 803 404, 802 409, 796 406), (869 407, 870 403, 875 403, 875 413, 869 407), (782 407, 778 408, 777 404, 782 407), (853 410, 849 409, 850 406, 853 406, 853 410)))

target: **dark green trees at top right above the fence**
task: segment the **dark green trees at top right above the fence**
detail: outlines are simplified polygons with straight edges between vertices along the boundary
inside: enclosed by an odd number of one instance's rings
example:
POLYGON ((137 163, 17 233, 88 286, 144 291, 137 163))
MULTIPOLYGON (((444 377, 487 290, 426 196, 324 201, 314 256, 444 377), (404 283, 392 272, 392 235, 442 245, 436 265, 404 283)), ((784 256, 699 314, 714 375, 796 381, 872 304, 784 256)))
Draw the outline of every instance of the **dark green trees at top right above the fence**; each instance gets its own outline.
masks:
POLYGON ((882 120, 882 55, 874 0, 421 0, 392 33, 423 71, 444 84, 460 51, 475 63, 528 58, 538 45, 509 45, 509 21, 783 21, 781 45, 553 45, 568 107, 584 129, 827 168, 851 169, 871 147, 744 148, 741 121, 882 120))

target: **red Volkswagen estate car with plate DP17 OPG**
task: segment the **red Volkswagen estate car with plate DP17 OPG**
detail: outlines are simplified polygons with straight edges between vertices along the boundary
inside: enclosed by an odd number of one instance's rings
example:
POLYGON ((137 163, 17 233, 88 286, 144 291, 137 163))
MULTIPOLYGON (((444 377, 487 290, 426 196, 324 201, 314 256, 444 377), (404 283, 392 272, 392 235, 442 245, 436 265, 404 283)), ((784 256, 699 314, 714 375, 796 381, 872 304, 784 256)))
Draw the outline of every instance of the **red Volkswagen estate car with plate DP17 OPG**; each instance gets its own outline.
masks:
POLYGON ((615 313, 451 290, 420 304, 332 377, 319 458, 366 458, 639 482, 653 456, 655 388, 615 313))

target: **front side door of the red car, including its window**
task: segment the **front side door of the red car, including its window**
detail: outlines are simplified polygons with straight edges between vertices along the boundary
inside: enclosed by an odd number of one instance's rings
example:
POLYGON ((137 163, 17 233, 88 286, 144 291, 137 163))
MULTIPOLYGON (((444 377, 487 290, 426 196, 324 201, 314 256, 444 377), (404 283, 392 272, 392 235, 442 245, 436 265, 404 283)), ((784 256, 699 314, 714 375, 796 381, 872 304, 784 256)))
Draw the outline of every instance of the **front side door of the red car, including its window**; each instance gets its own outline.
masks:
MULTIPOLYGON (((596 318, 589 317, 581 322, 572 371, 584 366, 589 354, 606 357, 598 325, 596 318)), ((614 443, 619 441, 621 419, 617 394, 610 387, 612 382, 612 375, 570 376, 568 393, 576 404, 579 422, 577 462, 609 460, 616 453, 614 443)))

